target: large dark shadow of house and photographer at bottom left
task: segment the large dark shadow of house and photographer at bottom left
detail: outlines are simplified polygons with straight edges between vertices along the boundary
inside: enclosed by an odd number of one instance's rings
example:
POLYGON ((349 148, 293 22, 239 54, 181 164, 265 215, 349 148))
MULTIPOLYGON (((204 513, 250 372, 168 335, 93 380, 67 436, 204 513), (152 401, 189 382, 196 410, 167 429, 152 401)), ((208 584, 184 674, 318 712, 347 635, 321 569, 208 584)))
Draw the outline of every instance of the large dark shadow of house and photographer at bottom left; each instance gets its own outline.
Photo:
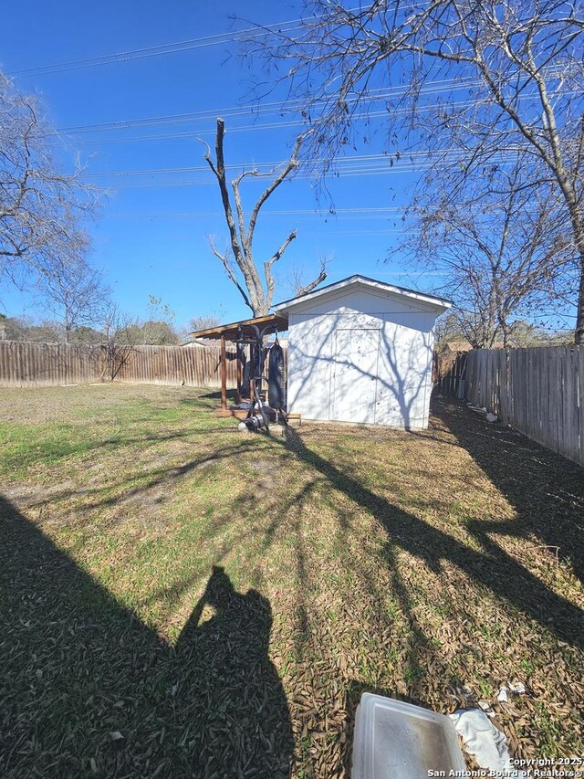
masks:
POLYGON ((265 597, 214 567, 169 647, 3 498, 0 532, 3 777, 289 776, 265 597))

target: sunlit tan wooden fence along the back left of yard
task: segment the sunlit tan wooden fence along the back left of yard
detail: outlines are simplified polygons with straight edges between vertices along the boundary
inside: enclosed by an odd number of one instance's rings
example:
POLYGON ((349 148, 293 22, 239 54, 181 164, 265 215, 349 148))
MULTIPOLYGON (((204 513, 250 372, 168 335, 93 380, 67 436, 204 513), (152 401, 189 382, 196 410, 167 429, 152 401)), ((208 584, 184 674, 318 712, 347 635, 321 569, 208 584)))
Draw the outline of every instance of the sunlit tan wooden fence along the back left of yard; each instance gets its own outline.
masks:
MULTIPOLYGON (((135 346, 115 381, 221 386, 219 346, 135 346)), ((235 387, 235 350, 227 351, 227 386, 235 387)), ((108 381, 105 346, 0 341, 0 386, 29 387, 108 381)))

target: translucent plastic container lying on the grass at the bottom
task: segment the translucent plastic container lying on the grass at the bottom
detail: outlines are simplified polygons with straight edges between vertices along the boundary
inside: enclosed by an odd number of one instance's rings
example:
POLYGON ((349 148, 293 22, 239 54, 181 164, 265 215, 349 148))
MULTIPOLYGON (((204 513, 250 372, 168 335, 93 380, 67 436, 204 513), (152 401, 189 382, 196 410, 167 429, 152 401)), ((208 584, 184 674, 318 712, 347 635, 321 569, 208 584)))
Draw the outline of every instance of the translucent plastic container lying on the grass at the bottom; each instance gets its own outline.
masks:
POLYGON ((355 718, 351 779, 425 779, 448 776, 451 770, 464 772, 466 765, 448 717, 363 693, 355 718))

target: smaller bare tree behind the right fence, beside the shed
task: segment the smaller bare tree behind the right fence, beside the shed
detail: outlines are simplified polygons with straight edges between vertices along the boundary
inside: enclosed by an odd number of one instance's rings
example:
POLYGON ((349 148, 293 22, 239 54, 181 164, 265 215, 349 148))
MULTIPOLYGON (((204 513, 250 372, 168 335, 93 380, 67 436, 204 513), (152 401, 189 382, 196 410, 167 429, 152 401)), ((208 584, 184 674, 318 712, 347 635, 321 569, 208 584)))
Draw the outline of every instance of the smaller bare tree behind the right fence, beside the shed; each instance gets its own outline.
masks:
POLYGON ((464 187, 445 171, 415 209, 410 246, 418 262, 445 279, 458 326, 476 348, 510 345, 514 321, 565 311, 578 288, 558 193, 549 186, 533 191, 532 174, 524 154, 512 166, 488 166, 464 187))

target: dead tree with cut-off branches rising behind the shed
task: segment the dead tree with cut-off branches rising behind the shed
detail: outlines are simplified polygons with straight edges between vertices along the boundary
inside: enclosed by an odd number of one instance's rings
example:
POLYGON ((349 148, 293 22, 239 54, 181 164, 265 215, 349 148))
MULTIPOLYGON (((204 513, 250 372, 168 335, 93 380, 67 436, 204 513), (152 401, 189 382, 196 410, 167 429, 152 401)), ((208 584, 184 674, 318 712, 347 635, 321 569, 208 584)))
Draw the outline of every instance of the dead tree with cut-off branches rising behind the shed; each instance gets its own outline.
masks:
MULTIPOLYGON (((282 241, 280 246, 276 248, 274 254, 264 260, 262 272, 256 265, 254 257, 255 226, 261 208, 266 203, 266 200, 270 195, 273 195, 274 192, 276 192, 278 186, 282 184, 288 176, 297 170, 299 165, 298 153, 305 136, 299 135, 297 137, 292 155, 278 173, 276 173, 276 171, 271 171, 268 174, 261 174, 257 169, 244 171, 244 173, 236 176, 231 182, 230 192, 225 174, 224 134, 224 121, 223 119, 217 119, 215 159, 213 160, 211 157, 211 149, 208 144, 205 144, 207 146, 207 153, 204 155, 204 159, 209 164, 209 167, 213 171, 217 183, 219 184, 225 220, 229 229, 229 250, 225 252, 219 251, 213 238, 210 238, 210 245, 214 256, 223 264, 227 277, 235 284, 235 287, 239 290, 241 296, 245 300, 245 304, 253 311, 254 316, 266 316, 272 306, 274 291, 276 289, 276 282, 273 274, 274 265, 282 258, 287 247, 297 237, 297 233, 296 230, 292 230, 282 241), (259 178, 262 176, 273 176, 273 178, 256 200, 249 219, 246 221, 241 197, 241 184, 245 178, 259 178), (232 199, 235 208, 232 204, 232 199)), ((307 294, 326 278, 327 271, 325 263, 321 262, 317 278, 300 289, 298 294, 307 294)))

